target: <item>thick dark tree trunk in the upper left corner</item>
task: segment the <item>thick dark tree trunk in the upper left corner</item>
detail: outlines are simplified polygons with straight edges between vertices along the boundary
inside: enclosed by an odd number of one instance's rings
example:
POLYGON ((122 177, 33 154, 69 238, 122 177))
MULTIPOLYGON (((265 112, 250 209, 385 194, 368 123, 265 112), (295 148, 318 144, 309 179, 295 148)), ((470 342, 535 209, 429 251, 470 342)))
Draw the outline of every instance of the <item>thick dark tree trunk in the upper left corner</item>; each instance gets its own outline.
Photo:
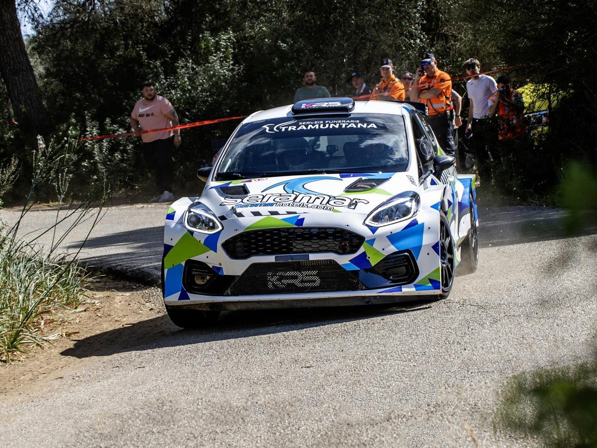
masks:
POLYGON ((0 75, 24 136, 44 135, 48 114, 21 35, 15 0, 0 0, 0 75))

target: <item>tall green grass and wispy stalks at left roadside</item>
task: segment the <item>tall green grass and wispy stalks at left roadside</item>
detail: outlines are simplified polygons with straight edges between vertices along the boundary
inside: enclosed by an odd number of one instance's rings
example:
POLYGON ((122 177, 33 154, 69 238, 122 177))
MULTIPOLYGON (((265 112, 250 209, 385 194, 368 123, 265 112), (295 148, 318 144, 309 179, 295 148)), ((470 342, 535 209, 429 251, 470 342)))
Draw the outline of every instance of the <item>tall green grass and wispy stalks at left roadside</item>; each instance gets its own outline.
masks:
MULTIPOLYGON (((19 218, 7 228, 0 220, 0 361, 9 362, 31 345, 42 345, 43 317, 56 308, 76 308, 87 293, 90 281, 77 257, 94 226, 103 216, 108 192, 105 184, 90 185, 87 194, 63 205, 69 182, 76 170, 76 143, 65 139, 46 146, 41 137, 33 153, 33 178, 19 218), (58 206, 53 225, 19 235, 21 223, 36 202, 39 189, 54 186, 58 206), (99 188, 98 188, 99 187, 99 188), (61 253, 60 245, 81 223, 91 221, 89 231, 75 253, 61 253), (59 231, 59 225, 66 230, 59 231), (65 227, 64 227, 65 226, 65 227), (50 233, 51 243, 41 244, 50 233)), ((0 192, 9 188, 16 164, 0 167, 0 192)), ((49 236, 47 237, 49 238, 49 236)))

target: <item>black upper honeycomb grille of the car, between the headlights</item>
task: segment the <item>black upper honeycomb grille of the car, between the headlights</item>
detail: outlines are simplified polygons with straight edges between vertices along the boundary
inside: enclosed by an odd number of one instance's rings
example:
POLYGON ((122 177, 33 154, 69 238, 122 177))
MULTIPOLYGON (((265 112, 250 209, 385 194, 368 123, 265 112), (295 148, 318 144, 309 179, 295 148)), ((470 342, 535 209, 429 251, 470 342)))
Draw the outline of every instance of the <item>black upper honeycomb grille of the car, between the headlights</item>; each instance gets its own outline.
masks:
POLYGON ((247 259, 254 255, 335 252, 355 253, 365 238, 332 227, 286 227, 243 232, 224 241, 230 258, 247 259))

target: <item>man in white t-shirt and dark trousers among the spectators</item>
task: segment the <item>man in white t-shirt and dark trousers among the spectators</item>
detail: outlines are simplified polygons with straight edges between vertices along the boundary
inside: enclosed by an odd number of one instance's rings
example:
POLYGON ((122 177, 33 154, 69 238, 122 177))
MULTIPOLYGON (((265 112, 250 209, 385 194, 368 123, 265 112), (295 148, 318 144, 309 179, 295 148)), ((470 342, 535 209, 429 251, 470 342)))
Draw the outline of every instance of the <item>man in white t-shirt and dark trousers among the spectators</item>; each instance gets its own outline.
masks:
POLYGON ((496 80, 491 76, 480 75, 481 63, 478 59, 470 58, 464 62, 466 74, 472 76, 466 82, 466 91, 469 95, 469 119, 466 132, 472 132, 472 147, 477 158, 479 177, 491 180, 491 152, 488 148, 490 142, 490 122, 488 102, 496 92, 496 80))

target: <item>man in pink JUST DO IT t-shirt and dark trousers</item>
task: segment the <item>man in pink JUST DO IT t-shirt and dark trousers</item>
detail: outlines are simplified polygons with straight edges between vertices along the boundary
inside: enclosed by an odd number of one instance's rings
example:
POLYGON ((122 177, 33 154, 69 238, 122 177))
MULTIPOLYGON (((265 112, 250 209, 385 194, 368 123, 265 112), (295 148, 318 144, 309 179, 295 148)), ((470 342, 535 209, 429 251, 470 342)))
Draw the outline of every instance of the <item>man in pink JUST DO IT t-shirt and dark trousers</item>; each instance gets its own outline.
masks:
MULTIPOLYGON (((131 127, 134 131, 161 129, 179 125, 179 117, 170 102, 156 95, 152 81, 143 82, 143 98, 131 112, 131 127)), ((147 168, 155 173, 158 195, 151 202, 170 202, 172 193, 172 151, 173 145, 180 146, 180 130, 159 131, 141 134, 143 158, 147 168)))

